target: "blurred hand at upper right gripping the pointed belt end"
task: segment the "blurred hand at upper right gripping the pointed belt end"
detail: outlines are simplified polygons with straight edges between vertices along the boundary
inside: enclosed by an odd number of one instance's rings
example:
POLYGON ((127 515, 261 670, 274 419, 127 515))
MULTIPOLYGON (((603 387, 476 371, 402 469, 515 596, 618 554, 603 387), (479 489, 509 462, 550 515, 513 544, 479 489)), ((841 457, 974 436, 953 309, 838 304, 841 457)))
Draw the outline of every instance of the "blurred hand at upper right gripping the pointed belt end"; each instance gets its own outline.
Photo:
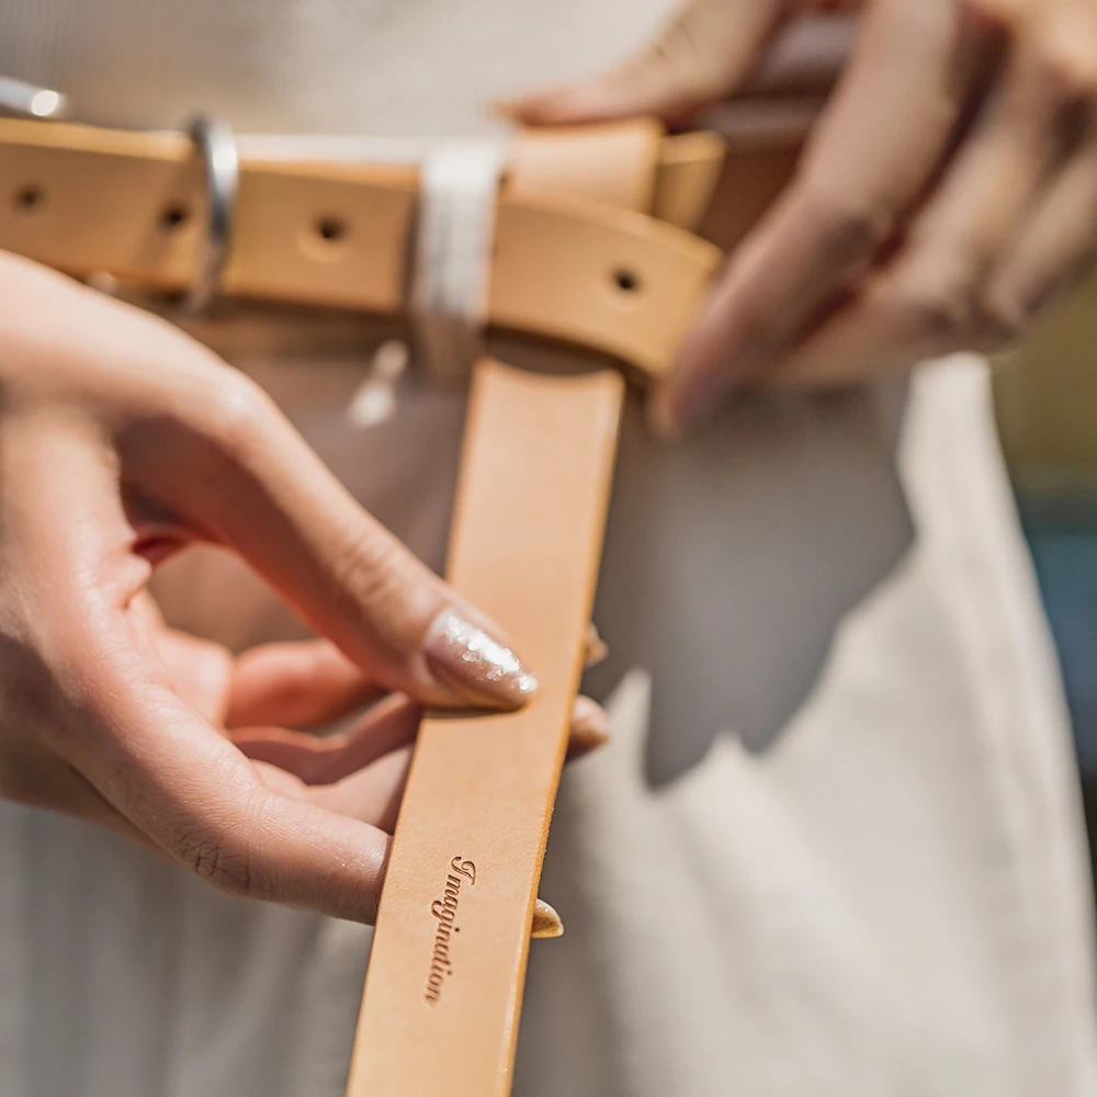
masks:
MULTIPOLYGON (((531 123, 681 121, 744 87, 804 0, 693 0, 644 56, 531 123)), ((1097 241, 1097 0, 866 0, 785 193, 731 257, 656 420, 842 384, 1022 330, 1097 241)))

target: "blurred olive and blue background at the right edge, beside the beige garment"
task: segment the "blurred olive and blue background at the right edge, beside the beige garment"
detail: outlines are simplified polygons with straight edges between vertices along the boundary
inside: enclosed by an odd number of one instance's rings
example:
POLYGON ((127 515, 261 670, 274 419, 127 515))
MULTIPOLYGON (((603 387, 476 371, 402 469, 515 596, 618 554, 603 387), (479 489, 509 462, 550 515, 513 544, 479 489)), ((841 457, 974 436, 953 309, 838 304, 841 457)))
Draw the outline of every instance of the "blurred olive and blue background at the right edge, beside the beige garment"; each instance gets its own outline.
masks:
POLYGON ((1055 635, 1097 869, 1097 276, 1002 357, 1002 442, 1055 635))

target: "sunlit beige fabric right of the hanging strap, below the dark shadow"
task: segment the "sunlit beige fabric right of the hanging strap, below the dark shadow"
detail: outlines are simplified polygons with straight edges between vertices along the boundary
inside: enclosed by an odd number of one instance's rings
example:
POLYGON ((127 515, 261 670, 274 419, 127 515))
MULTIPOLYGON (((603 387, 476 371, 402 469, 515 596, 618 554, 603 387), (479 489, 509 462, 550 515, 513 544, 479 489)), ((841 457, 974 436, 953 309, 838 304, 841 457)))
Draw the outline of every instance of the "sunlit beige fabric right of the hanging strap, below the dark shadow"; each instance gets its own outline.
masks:
POLYGON ((1074 782, 987 407, 977 361, 918 378, 918 542, 770 749, 721 737, 654 793, 626 679, 565 784, 520 1092, 1094 1092, 1074 782))

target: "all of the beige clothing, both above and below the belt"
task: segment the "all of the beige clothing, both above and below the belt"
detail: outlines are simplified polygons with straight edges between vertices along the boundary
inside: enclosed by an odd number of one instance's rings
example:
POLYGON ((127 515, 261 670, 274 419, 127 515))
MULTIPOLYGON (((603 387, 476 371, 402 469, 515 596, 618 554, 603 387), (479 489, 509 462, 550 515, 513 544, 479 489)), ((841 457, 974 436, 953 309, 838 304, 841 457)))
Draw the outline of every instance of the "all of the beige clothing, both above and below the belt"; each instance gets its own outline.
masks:
MULTIPOLYGON (((9 0, 0 71, 103 121, 467 133, 664 8, 9 0)), ((438 564, 460 397, 415 388, 365 429, 346 410, 377 332, 282 327, 203 335, 438 564)), ((761 400, 678 450, 632 410, 592 682, 617 739, 565 779, 543 893, 567 930, 534 949, 516 1092, 1097 1092, 1068 732, 983 365, 761 400)), ((299 627, 230 561, 172 573, 166 603, 203 631, 299 627)), ((367 930, 10 805, 0 861, 0 1093, 340 1094, 367 930)))

